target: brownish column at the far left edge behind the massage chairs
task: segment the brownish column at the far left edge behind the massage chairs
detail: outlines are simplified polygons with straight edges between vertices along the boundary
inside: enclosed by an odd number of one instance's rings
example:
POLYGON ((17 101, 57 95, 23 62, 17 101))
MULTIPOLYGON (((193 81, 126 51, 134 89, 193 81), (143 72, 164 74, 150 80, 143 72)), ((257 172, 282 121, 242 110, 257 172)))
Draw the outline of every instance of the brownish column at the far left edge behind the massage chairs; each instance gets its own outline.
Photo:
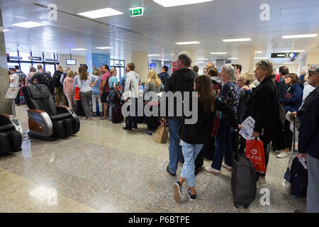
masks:
POLYGON ((0 114, 12 114, 11 99, 5 99, 9 88, 8 65, 6 62, 6 44, 4 43, 3 21, 0 9, 0 114))

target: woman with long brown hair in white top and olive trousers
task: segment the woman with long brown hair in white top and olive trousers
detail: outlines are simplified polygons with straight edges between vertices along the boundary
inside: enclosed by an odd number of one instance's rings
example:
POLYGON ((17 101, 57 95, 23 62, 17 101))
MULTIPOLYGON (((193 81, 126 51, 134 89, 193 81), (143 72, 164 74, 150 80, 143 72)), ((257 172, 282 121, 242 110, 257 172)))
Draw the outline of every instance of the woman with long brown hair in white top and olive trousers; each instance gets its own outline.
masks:
POLYGON ((81 101, 85 113, 84 120, 91 120, 90 100, 92 96, 92 80, 98 79, 98 77, 91 75, 87 72, 86 67, 79 67, 79 77, 77 77, 76 87, 80 89, 81 101))

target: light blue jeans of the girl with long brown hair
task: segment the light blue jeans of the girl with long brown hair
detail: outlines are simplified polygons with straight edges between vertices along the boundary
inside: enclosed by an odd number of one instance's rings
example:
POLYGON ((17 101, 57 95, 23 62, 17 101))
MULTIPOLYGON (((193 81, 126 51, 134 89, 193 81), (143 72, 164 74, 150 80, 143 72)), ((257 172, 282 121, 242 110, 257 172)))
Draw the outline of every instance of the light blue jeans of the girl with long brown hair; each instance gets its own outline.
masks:
POLYGON ((181 177, 187 179, 189 182, 189 187, 194 187, 195 185, 195 159, 198 153, 201 152, 203 144, 189 144, 181 140, 181 147, 183 148, 184 155, 184 165, 181 170, 181 177))

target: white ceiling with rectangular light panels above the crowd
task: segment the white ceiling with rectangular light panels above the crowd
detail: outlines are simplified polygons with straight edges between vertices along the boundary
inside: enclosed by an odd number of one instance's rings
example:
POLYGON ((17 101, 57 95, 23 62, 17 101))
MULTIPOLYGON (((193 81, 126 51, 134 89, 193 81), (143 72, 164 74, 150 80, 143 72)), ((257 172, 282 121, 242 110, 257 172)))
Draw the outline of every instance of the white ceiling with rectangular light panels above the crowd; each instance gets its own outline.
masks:
MULTIPOLYGON (((173 1, 173 0, 172 0, 173 1)), ((215 0, 202 4, 164 8, 151 0, 0 0, 5 32, 6 50, 14 52, 19 45, 21 52, 57 50, 61 54, 85 55, 86 52, 70 48, 87 48, 92 52, 110 53, 111 57, 124 58, 125 51, 142 51, 161 54, 153 60, 181 50, 194 50, 196 59, 238 57, 240 45, 254 45, 262 54, 283 50, 318 52, 317 38, 283 40, 282 35, 318 33, 318 0, 267 0, 270 21, 261 21, 259 7, 264 0, 215 0), (48 21, 47 9, 35 4, 56 4, 57 21, 48 21), (128 9, 145 6, 145 15, 131 18, 128 9), (111 7, 123 15, 81 18, 77 13, 111 7), (18 28, 13 23, 35 21, 47 26, 18 28), (108 26, 110 25, 110 26, 108 26), (13 27, 13 28, 9 28, 13 27), (252 38, 251 42, 223 43, 225 38, 252 38), (198 45, 180 46, 176 42, 197 40, 198 45), (112 46, 113 50, 96 47, 112 46), (228 52, 228 55, 210 55, 209 52, 228 52)), ((281 63, 284 60, 274 60, 281 63)))

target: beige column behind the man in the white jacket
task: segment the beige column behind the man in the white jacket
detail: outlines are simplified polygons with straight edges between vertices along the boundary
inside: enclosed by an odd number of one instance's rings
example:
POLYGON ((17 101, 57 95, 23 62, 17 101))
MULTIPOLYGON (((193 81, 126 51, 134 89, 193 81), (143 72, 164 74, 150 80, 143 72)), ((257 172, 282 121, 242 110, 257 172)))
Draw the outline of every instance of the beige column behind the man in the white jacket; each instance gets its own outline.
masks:
MULTIPOLYGON (((148 52, 132 51, 132 62, 136 70, 140 72, 140 81, 146 82, 148 74, 148 52)), ((128 65, 128 63, 130 62, 125 60, 125 65, 128 65)))

